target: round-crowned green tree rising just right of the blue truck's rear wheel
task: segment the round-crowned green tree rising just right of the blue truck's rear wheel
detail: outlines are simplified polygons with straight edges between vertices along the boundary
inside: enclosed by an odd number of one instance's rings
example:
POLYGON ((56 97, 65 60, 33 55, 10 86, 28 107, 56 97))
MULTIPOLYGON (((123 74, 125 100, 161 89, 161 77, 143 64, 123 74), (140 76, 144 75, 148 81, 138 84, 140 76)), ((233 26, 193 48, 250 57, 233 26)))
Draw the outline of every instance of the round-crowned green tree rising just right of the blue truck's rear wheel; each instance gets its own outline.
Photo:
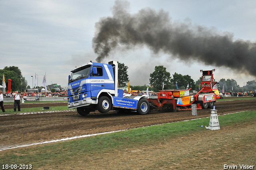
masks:
POLYGON ((164 82, 164 89, 170 88, 170 72, 166 71, 164 66, 155 66, 155 71, 150 74, 150 85, 154 86, 157 90, 162 90, 164 82))

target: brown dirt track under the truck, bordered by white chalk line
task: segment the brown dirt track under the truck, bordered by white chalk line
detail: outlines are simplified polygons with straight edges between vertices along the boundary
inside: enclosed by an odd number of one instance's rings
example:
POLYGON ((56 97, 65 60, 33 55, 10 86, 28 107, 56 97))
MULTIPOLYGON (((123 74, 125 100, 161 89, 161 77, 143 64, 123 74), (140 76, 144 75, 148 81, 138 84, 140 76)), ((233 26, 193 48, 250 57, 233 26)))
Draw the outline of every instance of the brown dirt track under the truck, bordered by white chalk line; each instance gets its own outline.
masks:
MULTIPOLYGON (((248 97, 249 98, 249 97, 248 97)), ((256 110, 256 98, 252 100, 217 100, 218 115, 256 110)), ((64 103, 65 104, 65 103, 64 103)), ((45 104, 44 104, 45 105, 45 104)), ((56 105, 63 105, 59 103, 56 105)), ((36 106, 33 105, 33 106, 36 106)), ((22 108, 22 107, 21 107, 22 108)), ((210 109, 198 110, 198 118, 210 116, 210 109)), ((148 115, 92 112, 80 116, 76 111, 44 112, 38 114, 12 114, 0 116, 0 149, 50 141, 85 134, 137 128, 194 119, 191 111, 150 113, 148 115)))

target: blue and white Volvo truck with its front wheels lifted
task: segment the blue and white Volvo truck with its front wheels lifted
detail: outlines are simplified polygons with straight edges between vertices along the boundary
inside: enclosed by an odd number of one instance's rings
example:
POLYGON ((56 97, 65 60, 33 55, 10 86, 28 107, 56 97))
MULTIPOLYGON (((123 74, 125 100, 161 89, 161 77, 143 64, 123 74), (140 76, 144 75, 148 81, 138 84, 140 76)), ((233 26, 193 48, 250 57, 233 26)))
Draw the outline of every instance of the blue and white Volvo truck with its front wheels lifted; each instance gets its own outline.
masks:
POLYGON ((88 115, 98 110, 130 110, 137 114, 148 114, 148 95, 129 98, 118 89, 118 63, 88 62, 71 70, 68 76, 68 108, 76 108, 78 114, 88 115))

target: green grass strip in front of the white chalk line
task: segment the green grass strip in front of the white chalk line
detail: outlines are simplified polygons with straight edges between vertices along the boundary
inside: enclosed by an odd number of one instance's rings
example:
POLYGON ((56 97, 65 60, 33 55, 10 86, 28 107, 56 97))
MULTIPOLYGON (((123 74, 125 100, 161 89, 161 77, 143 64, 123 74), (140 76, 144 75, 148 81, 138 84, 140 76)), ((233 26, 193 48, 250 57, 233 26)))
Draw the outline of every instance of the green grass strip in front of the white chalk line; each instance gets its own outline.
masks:
MULTIPOLYGON (((223 128, 234 124, 255 121, 256 111, 218 116, 218 119, 221 128, 223 128)), ((209 120, 210 118, 199 119, 198 124, 203 125, 203 127, 208 126, 209 120)), ((200 126, 196 126, 196 124, 196 120, 190 120, 136 128, 66 142, 4 150, 0 151, 0 162, 1 164, 32 164, 33 169, 58 169, 60 166, 62 168, 65 167, 65 165, 68 169, 79 169, 78 164, 80 166, 83 164, 90 164, 90 162, 88 162, 88 158, 94 157, 94 155, 98 155, 97 158, 95 158, 96 160, 93 159, 94 163, 97 162, 98 164, 104 164, 101 160, 97 160, 100 158, 100 155, 113 154, 114 152, 120 153, 123 152, 124 149, 129 150, 129 148, 132 148, 133 150, 142 147, 150 148, 152 146, 159 145, 159 143, 164 143, 165 141, 172 141, 177 138, 186 138, 186 136, 191 136, 193 134, 203 135, 204 133, 211 131, 201 128, 200 126)), ((202 154, 204 152, 206 151, 202 150, 202 154)), ((169 166, 168 162, 162 164, 164 165, 148 166, 151 168, 145 169, 158 169, 159 167, 166 166, 166 164, 169 166)), ((120 169, 133 168, 127 167, 120 169)))

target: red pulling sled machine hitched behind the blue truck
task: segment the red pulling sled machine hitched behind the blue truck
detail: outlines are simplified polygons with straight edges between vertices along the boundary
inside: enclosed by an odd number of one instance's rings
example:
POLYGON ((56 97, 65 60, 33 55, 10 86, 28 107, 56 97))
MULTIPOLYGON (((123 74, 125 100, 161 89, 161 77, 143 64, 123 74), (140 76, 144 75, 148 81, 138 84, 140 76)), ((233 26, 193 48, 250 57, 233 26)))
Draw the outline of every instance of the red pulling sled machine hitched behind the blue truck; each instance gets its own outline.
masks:
POLYGON ((191 109, 191 104, 197 104, 197 108, 213 108, 217 98, 220 98, 220 93, 217 88, 217 82, 213 78, 213 70, 202 72, 202 89, 198 93, 190 93, 189 90, 160 90, 158 98, 148 99, 148 102, 160 108, 164 104, 172 104, 173 110, 176 112, 177 108, 191 109))

